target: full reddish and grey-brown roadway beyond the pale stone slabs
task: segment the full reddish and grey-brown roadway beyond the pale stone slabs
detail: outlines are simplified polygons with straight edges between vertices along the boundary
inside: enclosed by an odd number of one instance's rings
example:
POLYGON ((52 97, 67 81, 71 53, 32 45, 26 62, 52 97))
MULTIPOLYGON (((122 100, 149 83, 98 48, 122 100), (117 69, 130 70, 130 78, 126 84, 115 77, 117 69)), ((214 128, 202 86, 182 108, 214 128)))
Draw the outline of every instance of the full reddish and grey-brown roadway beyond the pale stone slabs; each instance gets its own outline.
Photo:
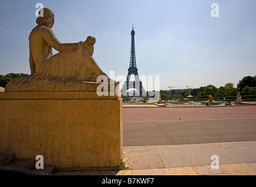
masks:
POLYGON ((256 140, 256 106, 123 108, 123 121, 123 146, 256 140))

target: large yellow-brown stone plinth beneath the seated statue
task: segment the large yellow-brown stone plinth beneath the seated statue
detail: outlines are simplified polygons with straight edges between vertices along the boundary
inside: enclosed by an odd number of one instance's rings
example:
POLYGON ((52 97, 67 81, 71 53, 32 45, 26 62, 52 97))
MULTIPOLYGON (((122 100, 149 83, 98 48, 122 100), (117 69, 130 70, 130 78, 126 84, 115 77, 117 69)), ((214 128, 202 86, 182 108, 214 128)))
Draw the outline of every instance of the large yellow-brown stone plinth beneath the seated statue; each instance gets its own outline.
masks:
POLYGON ((44 165, 116 169, 123 144, 122 98, 96 92, 0 92, 0 152, 43 155, 44 165))

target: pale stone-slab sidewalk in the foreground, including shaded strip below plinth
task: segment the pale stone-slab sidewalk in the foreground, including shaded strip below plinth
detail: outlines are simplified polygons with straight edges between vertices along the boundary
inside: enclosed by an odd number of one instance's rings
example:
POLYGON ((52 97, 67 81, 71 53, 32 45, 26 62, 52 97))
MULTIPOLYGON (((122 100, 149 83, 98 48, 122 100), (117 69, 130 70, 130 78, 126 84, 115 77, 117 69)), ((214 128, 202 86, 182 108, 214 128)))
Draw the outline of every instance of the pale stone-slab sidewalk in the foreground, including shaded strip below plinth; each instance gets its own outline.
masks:
POLYGON ((123 147, 123 171, 57 172, 56 175, 256 175, 256 141, 123 147), (212 169, 212 155, 219 169, 212 169))

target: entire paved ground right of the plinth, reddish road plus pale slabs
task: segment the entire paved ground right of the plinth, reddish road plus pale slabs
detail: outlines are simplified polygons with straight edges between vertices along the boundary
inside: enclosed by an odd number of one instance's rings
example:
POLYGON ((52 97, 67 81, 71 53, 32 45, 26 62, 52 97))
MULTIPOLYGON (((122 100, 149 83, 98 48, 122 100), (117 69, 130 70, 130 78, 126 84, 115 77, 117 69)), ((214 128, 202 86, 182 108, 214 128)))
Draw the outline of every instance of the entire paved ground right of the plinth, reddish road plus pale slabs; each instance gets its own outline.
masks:
POLYGON ((123 175, 256 175, 256 106, 123 108, 123 175), (212 155, 220 168, 212 169, 212 155))

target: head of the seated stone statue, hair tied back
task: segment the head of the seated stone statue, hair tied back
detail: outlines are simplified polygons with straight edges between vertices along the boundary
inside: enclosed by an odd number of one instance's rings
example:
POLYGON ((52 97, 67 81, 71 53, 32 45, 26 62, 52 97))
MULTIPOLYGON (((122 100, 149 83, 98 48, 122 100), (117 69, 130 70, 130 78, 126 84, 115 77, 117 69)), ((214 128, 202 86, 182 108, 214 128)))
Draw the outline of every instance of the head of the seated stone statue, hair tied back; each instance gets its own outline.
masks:
POLYGON ((42 8, 39 10, 39 12, 40 11, 43 11, 43 17, 37 17, 36 19, 37 25, 43 25, 51 29, 51 27, 53 27, 53 24, 54 24, 53 11, 51 11, 49 8, 42 8))

